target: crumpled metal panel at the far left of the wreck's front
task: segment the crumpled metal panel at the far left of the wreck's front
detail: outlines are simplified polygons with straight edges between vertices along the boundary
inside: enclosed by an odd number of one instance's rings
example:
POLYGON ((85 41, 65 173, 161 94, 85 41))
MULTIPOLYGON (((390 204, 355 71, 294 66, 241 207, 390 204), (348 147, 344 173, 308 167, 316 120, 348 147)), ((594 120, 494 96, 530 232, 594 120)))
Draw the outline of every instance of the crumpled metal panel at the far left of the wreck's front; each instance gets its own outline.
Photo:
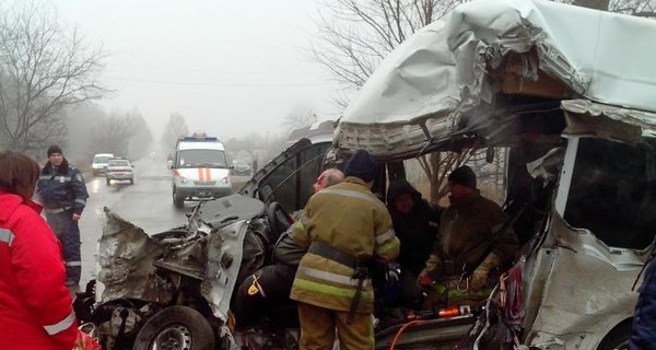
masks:
POLYGON ((155 260, 165 254, 165 246, 107 207, 104 210, 105 225, 99 240, 97 277, 104 290, 98 302, 116 299, 168 302, 172 290, 155 273, 154 266, 155 260))

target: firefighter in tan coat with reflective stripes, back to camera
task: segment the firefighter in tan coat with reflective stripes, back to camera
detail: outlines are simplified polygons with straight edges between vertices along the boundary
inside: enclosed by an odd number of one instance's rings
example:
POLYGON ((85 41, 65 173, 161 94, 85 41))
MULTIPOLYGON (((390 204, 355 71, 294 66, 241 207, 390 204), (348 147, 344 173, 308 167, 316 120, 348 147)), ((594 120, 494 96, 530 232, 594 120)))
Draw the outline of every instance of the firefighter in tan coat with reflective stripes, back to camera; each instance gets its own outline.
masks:
POLYGON ((366 151, 347 163, 345 179, 311 197, 292 226, 307 253, 301 259, 291 298, 298 302, 300 348, 373 349, 374 292, 367 260, 388 261, 399 253, 385 205, 371 191, 378 170, 366 151))

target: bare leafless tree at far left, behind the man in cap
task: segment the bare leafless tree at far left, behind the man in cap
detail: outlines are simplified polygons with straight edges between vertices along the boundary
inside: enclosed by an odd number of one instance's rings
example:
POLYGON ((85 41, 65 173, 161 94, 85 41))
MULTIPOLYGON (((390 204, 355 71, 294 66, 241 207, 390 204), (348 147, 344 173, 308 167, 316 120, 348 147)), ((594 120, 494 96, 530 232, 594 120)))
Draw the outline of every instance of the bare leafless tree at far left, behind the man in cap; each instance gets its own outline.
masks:
POLYGON ((0 136, 30 151, 65 139, 62 110, 107 91, 96 82, 105 54, 65 31, 52 8, 0 3, 0 136))

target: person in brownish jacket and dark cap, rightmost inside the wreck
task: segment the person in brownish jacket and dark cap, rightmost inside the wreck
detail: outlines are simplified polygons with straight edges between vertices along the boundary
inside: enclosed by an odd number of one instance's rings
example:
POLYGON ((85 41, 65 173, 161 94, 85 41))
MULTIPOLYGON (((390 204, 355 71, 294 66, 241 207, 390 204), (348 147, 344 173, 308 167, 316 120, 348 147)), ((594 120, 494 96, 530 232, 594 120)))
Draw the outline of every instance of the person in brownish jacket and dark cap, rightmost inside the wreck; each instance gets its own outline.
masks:
POLYGON ((450 206, 442 212, 438 238, 418 278, 420 285, 433 287, 424 304, 427 307, 477 304, 485 299, 490 272, 519 247, 508 217, 480 195, 469 166, 454 170, 447 180, 450 206))

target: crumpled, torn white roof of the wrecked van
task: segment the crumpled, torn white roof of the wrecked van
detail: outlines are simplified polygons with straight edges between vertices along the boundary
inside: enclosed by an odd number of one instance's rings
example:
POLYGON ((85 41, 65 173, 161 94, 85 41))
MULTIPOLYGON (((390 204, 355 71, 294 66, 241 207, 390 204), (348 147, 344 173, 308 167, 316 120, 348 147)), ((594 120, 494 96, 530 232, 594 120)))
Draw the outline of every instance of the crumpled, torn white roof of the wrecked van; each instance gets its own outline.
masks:
POLYGON ((466 3, 388 55, 344 110, 335 143, 389 156, 480 129, 499 107, 491 71, 508 70, 511 56, 522 80, 562 85, 555 101, 623 107, 630 124, 632 110, 646 110, 654 127, 655 40, 647 19, 538 0, 466 3))

